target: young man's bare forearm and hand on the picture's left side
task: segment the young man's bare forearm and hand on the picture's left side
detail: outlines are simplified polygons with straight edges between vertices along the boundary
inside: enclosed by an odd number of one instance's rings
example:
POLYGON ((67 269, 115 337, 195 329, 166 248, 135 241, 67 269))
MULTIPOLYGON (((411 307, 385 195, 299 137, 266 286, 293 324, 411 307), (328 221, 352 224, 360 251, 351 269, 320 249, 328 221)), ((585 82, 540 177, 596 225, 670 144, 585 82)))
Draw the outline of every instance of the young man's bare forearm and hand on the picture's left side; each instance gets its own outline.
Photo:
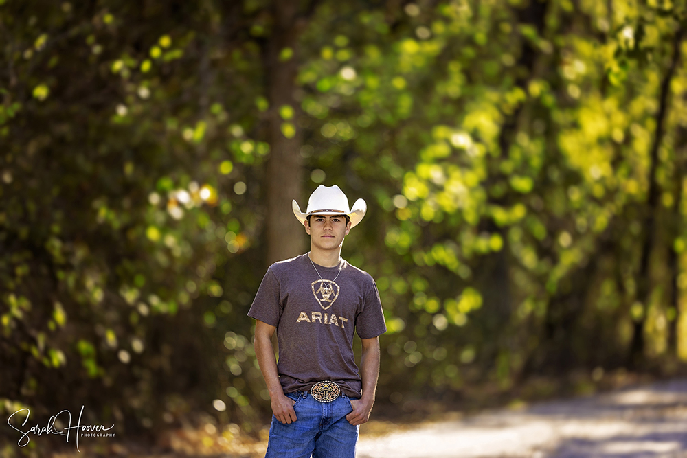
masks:
POLYGON ((289 424, 296 421, 296 413, 293 410, 295 402, 284 395, 279 382, 277 359, 274 356, 274 347, 272 347, 272 336, 276 329, 272 325, 257 320, 254 347, 262 377, 272 400, 272 413, 281 423, 289 424))

